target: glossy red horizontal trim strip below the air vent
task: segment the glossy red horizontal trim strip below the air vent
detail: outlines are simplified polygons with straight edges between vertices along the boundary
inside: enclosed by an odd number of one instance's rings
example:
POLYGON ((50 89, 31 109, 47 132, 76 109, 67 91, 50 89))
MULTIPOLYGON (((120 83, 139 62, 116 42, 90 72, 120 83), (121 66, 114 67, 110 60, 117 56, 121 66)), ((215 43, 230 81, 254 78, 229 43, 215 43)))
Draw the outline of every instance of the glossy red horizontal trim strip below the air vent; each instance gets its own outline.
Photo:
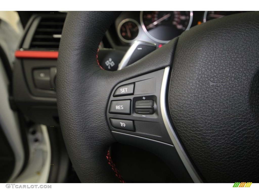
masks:
POLYGON ((57 59, 58 55, 59 51, 17 50, 15 52, 16 58, 57 59))

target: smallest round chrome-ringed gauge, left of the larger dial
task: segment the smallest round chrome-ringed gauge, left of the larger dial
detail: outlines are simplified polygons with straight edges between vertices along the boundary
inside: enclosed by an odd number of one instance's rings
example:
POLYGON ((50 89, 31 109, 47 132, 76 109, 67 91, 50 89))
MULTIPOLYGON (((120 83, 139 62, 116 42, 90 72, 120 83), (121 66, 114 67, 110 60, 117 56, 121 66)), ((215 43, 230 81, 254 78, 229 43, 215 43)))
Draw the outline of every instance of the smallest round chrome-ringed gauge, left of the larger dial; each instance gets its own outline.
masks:
POLYGON ((125 19, 118 26, 118 35, 124 42, 133 42, 139 35, 139 24, 136 20, 125 19))

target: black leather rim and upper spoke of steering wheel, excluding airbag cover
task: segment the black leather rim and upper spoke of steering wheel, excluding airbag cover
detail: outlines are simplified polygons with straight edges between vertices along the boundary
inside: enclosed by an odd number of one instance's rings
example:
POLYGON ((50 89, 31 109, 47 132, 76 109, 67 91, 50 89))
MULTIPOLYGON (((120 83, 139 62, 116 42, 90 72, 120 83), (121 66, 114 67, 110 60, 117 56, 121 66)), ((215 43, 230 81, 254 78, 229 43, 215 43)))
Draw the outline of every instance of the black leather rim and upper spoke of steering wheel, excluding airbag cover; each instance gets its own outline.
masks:
POLYGON ((100 69, 96 54, 119 12, 69 12, 57 65, 57 105, 62 134, 81 182, 119 182, 106 153, 115 141, 106 120, 112 89, 121 81, 172 63, 177 39, 127 68, 100 69))

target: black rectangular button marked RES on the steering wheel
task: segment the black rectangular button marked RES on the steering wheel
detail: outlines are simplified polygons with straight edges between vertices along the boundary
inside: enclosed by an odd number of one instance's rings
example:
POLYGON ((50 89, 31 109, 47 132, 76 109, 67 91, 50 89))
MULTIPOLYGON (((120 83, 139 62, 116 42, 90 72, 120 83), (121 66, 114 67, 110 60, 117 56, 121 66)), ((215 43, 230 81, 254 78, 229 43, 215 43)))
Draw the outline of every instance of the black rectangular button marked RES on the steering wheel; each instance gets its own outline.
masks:
POLYGON ((130 115, 130 100, 111 101, 110 113, 130 115))

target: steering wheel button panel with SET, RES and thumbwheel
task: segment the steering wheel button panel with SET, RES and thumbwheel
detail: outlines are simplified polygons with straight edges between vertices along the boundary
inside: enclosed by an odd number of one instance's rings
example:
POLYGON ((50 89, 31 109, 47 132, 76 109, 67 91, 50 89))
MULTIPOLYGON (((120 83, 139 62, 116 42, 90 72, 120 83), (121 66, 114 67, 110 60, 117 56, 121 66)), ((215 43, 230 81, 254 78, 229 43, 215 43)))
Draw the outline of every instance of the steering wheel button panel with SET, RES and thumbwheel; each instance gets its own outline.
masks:
POLYGON ((139 76, 114 88, 107 108, 112 131, 171 143, 161 116, 163 73, 159 70, 139 76))

